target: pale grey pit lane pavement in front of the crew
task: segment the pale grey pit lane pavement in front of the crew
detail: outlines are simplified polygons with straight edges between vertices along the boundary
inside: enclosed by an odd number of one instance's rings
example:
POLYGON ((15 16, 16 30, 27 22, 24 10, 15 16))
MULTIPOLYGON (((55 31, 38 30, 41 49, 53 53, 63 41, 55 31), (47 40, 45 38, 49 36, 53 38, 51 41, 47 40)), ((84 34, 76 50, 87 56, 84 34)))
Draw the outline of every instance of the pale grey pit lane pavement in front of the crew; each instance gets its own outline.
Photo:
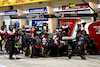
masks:
POLYGON ((15 60, 9 60, 8 55, 5 57, 0 55, 0 67, 100 67, 100 55, 88 55, 87 60, 82 60, 79 56, 73 56, 72 59, 68 57, 29 58, 20 54, 18 57, 21 59, 15 60))

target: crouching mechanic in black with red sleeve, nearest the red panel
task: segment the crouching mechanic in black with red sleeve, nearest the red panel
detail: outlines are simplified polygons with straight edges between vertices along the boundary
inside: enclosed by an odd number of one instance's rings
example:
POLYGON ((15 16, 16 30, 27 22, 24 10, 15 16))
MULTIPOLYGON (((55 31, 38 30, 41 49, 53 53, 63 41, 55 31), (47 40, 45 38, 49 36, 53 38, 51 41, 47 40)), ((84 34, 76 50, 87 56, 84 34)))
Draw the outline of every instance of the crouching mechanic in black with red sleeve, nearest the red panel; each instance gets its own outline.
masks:
POLYGON ((84 42, 84 38, 80 37, 79 41, 76 43, 75 49, 72 51, 70 55, 68 55, 69 59, 73 56, 73 54, 79 54, 82 59, 86 59, 84 56, 86 53, 86 43, 84 42))

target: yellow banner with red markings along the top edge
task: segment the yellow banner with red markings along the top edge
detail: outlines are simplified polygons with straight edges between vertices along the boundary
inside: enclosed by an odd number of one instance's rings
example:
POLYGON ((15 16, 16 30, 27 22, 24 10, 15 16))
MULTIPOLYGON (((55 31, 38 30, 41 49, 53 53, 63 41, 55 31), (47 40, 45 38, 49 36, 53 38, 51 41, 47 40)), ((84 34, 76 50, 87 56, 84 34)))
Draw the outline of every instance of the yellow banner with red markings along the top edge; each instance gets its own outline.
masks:
POLYGON ((49 1, 49 0, 0 0, 0 6, 27 4, 27 3, 42 2, 42 1, 49 1))

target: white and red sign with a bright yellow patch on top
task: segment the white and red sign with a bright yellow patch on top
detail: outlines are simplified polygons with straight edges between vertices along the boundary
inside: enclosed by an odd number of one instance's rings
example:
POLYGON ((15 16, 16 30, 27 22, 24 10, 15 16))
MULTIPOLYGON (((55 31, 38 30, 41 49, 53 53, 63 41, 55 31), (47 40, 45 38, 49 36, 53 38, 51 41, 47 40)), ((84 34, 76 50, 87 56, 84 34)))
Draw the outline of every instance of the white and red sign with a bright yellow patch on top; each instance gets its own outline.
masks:
POLYGON ((90 9, 90 7, 86 4, 74 4, 70 3, 69 5, 63 5, 63 6, 55 6, 54 11, 72 11, 72 10, 87 10, 90 9))

